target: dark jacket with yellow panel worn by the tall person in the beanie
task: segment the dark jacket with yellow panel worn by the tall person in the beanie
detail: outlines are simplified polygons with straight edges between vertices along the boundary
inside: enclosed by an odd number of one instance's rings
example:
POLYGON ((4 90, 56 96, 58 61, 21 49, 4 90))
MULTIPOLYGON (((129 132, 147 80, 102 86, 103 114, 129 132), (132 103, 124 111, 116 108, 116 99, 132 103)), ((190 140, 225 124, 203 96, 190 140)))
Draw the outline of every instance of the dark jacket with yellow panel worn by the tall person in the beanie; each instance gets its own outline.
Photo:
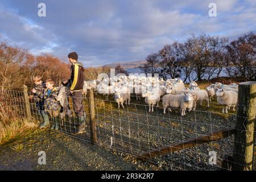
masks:
POLYGON ((84 86, 84 67, 82 63, 76 62, 71 65, 71 91, 82 90, 84 86))

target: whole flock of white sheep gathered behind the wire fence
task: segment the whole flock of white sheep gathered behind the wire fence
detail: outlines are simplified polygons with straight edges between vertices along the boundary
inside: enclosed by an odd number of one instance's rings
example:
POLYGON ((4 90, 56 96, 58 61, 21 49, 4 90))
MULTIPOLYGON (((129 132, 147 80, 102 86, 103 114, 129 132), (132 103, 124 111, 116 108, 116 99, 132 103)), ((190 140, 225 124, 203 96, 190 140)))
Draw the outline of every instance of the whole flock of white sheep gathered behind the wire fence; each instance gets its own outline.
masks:
MULTIPOLYGON (((222 105, 222 113, 228 113, 230 107, 237 105, 238 85, 224 85, 220 82, 207 86, 207 89, 200 89, 195 81, 190 82, 186 88, 179 78, 163 80, 163 78, 140 77, 140 76, 119 76, 114 78, 104 78, 103 80, 92 80, 84 82, 84 94, 87 89, 93 89, 97 94, 102 94, 108 100, 109 95, 114 95, 114 100, 120 105, 126 102, 130 105, 131 94, 134 93, 137 100, 145 98, 149 106, 148 112, 154 111, 154 106, 158 106, 162 98, 163 113, 166 108, 180 108, 181 115, 185 115, 186 110, 195 110, 197 101, 202 105, 203 101, 211 102, 213 96, 217 96, 218 104, 222 105)), ((63 96, 68 92, 68 88, 60 88, 59 100, 65 102, 63 96)), ((65 104, 61 104, 64 105, 65 104)))

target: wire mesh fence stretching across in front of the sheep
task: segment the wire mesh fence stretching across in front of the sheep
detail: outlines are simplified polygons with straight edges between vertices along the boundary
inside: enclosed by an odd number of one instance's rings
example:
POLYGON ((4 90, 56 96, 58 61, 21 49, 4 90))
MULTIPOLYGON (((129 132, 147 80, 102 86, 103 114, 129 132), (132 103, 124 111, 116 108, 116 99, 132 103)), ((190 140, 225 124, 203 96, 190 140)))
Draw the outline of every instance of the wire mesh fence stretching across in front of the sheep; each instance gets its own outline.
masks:
MULTIPOLYGON (((182 116, 179 108, 167 109, 167 113, 163 114, 161 102, 153 112, 149 112, 144 98, 137 100, 135 95, 131 96, 130 104, 124 104, 125 108, 118 108, 112 95, 106 100, 105 96, 92 90, 88 90, 88 93, 82 101, 86 115, 85 131, 77 132, 81 123, 73 111, 71 96, 65 97, 67 107, 60 105, 56 117, 59 123, 57 131, 169 170, 230 170, 238 161, 233 156, 243 158, 245 155, 234 150, 237 142, 234 134, 239 132, 236 129, 237 118, 245 121, 247 118, 237 115, 233 108, 228 114, 222 113, 222 107, 218 106, 216 100, 209 107, 207 103, 203 102, 202 106, 199 103, 196 110, 187 111, 182 116)), ((44 121, 38 102, 26 89, 2 90, 0 103, 2 115, 27 117, 31 114, 31 117, 44 121)), ((238 107, 243 110, 247 108, 239 104, 238 107)), ((250 106, 250 109, 256 110, 256 105, 250 106)), ((54 119, 49 115, 49 126, 53 125, 54 119)), ((255 137, 255 130, 253 133, 255 137)), ((239 144, 248 145, 246 141, 239 144)), ((251 165, 255 170, 253 161, 251 165)))

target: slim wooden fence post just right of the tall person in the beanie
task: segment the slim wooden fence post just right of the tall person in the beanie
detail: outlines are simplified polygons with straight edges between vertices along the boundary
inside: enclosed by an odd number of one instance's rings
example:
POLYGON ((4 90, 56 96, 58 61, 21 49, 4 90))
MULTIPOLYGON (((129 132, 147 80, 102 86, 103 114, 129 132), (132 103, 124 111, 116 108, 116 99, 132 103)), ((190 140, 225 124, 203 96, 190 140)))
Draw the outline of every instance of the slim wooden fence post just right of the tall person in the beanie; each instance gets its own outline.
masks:
POLYGON ((89 89, 89 115, 90 115, 90 137, 92 143, 97 143, 96 122, 95 122, 95 107, 93 89, 89 89))

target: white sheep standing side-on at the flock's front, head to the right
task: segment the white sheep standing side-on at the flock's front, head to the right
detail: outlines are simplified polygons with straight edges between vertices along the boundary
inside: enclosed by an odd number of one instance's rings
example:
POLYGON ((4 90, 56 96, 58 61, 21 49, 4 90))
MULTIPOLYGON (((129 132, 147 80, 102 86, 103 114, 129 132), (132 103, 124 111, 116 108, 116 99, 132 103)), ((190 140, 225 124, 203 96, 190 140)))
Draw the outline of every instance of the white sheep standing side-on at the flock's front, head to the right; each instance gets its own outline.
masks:
MULTIPOLYGON (((167 94, 163 97, 163 113, 166 114, 167 107, 175 107, 181 109, 181 115, 185 115, 185 110, 192 110, 193 107, 193 96, 190 93, 184 93, 179 95, 167 94)), ((171 109, 169 108, 171 111, 171 109)))

